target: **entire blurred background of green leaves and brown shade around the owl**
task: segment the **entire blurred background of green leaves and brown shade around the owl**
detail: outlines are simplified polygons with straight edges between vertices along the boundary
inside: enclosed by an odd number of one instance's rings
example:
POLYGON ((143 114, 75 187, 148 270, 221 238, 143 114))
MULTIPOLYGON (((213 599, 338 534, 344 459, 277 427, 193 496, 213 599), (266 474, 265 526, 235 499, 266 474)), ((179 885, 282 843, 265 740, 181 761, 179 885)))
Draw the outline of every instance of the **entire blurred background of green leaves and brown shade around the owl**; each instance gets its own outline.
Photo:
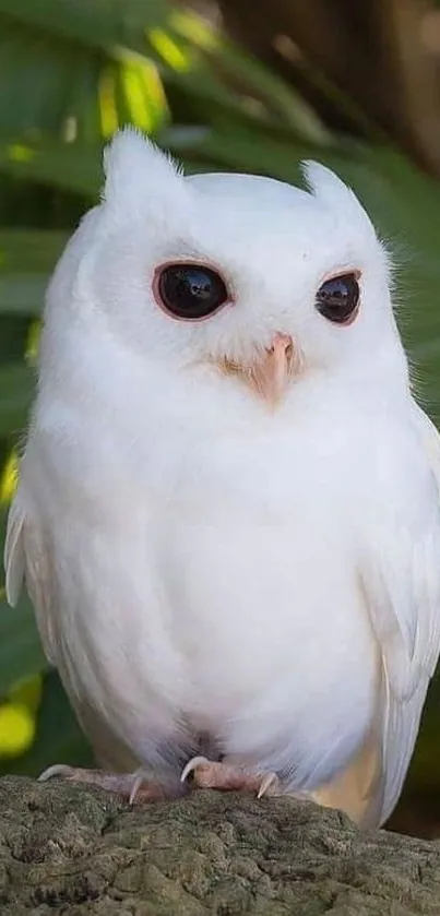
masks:
MULTIPOLYGON (((96 199, 103 144, 124 123, 152 134, 188 170, 297 181, 299 162, 314 157, 352 183, 394 249, 419 397, 440 419, 436 8, 416 0, 194 5, 0 0, 0 540, 44 289, 96 199)), ((439 694, 435 685, 394 823, 440 835, 439 694)), ((0 701, 0 771, 37 773, 90 758, 26 597, 11 610, 4 590, 0 701)))

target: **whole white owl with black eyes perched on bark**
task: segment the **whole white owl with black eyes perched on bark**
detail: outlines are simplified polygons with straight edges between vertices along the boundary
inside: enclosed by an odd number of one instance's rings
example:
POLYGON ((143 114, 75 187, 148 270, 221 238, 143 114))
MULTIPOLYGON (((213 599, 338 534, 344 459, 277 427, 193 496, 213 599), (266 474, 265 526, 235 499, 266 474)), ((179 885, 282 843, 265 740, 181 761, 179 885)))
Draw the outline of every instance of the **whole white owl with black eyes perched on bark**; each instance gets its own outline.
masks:
POLYGON ((440 445, 354 193, 132 131, 50 284, 5 550, 104 771, 382 823, 440 649, 440 445), (206 760, 204 759, 206 758, 206 760), (187 765, 186 765, 187 764, 187 765))

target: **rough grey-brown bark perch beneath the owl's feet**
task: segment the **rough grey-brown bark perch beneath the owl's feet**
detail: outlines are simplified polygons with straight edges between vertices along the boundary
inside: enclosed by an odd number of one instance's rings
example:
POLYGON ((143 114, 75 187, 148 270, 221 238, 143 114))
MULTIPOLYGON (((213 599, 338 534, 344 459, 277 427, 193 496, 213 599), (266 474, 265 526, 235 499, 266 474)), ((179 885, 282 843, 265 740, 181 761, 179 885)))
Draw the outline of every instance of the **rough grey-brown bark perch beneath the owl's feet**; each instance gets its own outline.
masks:
POLYGON ((288 799, 127 805, 0 780, 1 916, 414 916, 440 912, 440 844, 288 799))

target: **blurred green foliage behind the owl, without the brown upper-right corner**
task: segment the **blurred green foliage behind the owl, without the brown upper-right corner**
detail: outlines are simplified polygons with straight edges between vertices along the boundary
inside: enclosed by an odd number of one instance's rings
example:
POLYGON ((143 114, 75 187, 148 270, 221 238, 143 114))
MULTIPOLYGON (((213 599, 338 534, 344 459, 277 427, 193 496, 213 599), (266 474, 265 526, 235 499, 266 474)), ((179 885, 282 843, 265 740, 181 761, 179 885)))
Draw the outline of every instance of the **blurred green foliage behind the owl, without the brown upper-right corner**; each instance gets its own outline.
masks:
MULTIPOLYGON (((394 251, 395 300, 417 365, 417 391, 440 418, 436 181, 399 150, 332 135, 290 86, 182 7, 164 0, 0 0, 1 542, 13 487, 11 453, 32 398, 45 285, 69 233, 97 197, 103 144, 124 123, 147 131, 188 170, 298 181, 298 165, 309 157, 336 169, 394 251)), ((24 756, 0 759, 0 771, 36 773, 88 756, 58 678, 48 673, 27 598, 11 610, 3 590, 0 695, 7 699, 38 673, 45 677, 37 737, 24 756)), ((430 703, 437 705, 436 691, 430 703)), ((414 764, 426 785, 438 782, 428 752, 436 731, 428 723, 414 764)))

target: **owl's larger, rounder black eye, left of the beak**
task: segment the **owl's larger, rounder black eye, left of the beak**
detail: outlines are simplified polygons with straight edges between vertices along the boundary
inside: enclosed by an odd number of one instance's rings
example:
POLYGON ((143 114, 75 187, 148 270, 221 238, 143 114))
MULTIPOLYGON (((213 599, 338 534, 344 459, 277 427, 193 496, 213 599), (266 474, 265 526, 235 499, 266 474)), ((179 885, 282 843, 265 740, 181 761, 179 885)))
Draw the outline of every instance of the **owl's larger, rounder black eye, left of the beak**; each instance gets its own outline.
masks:
POLYGON ((198 264, 169 264, 157 279, 157 295, 175 318, 195 321, 213 314, 228 298, 222 277, 198 264))

